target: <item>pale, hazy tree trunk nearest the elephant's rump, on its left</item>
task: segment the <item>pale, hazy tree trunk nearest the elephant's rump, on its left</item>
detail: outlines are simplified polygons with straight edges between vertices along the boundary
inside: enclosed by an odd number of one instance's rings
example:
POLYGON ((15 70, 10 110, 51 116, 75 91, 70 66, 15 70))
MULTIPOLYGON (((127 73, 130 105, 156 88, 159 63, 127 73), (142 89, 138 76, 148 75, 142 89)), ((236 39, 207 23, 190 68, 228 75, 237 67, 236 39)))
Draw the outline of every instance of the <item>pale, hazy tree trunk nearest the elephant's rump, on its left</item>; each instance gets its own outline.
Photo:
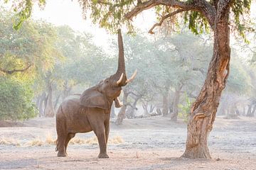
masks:
POLYGON ((51 84, 48 84, 48 97, 47 97, 47 102, 46 102, 46 109, 44 111, 44 115, 48 118, 53 118, 55 115, 55 111, 53 108, 53 89, 51 84))

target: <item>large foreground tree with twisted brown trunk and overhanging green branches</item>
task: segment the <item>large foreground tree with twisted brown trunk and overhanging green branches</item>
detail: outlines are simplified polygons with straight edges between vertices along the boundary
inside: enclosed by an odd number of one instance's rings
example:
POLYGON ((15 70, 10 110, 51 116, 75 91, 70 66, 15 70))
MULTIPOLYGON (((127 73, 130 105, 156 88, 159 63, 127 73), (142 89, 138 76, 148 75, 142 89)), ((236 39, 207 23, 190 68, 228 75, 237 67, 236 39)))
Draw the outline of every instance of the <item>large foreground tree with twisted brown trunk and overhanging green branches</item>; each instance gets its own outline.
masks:
MULTIPOLYGON (((26 1, 30 2, 30 1, 26 1)), ((159 23, 168 20, 177 21, 173 16, 183 13, 188 27, 194 33, 201 33, 203 28, 213 30, 213 57, 208 67, 206 80, 200 94, 191 107, 186 140, 186 151, 183 157, 210 158, 208 135, 213 128, 215 114, 220 96, 225 88, 230 71, 230 26, 235 23, 238 33, 245 38, 245 19, 242 16, 250 9, 250 0, 146 0, 146 1, 88 1, 79 0, 84 13, 90 13, 95 23, 113 32, 122 24, 132 29, 131 19, 142 11, 155 8, 159 14, 159 23), (230 11, 232 12, 230 15, 230 11), (129 19, 129 20, 126 20, 129 19), (230 22, 233 19, 234 22, 230 22)), ((28 4, 28 3, 27 3, 28 4)), ((28 4, 26 6, 30 6, 28 4)), ((26 8, 25 8, 26 9, 26 8)), ((29 8, 28 8, 29 9, 29 8)), ((26 9, 25 11, 29 11, 26 9)), ((247 18, 247 17, 246 17, 247 18)))

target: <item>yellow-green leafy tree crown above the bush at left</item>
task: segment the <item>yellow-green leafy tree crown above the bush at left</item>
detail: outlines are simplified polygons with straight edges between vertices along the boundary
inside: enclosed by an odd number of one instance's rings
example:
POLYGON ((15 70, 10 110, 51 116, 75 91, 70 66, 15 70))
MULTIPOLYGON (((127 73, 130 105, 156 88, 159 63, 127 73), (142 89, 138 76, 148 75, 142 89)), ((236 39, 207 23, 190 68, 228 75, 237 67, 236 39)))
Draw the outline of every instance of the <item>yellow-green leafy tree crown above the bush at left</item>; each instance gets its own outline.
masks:
POLYGON ((0 13, 0 72, 28 72, 31 78, 53 66, 58 57, 55 49, 55 30, 48 23, 30 21, 20 30, 13 27, 14 13, 0 13))

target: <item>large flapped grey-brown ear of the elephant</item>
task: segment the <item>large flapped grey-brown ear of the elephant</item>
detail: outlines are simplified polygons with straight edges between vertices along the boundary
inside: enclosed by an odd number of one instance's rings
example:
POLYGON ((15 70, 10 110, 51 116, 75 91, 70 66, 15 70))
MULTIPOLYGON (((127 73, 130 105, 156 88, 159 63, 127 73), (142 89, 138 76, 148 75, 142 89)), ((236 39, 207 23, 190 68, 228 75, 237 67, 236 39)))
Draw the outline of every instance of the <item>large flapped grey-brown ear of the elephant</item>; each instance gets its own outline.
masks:
POLYGON ((80 104, 87 108, 110 108, 107 98, 100 91, 94 89, 87 89, 82 93, 80 104))

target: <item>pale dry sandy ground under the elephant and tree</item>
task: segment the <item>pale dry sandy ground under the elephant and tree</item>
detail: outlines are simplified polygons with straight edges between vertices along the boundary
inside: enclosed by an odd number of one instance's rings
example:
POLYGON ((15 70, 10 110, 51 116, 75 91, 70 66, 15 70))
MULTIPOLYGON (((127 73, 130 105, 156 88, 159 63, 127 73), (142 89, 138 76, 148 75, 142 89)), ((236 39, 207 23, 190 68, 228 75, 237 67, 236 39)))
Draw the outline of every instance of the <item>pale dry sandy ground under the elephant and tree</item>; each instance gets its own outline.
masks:
MULTIPOLYGON (((0 128, 0 169, 256 169, 256 118, 216 118, 210 132, 213 159, 181 159, 186 142, 186 125, 154 117, 112 123, 108 145, 110 159, 97 159, 95 142, 69 145, 68 157, 56 157, 55 120, 33 119, 23 127, 0 128), (33 145, 36 140, 41 146, 33 145), (121 140, 121 141, 122 141, 121 140), (4 142, 5 141, 5 142, 4 142)), ((90 132, 77 139, 90 139, 90 132)))

